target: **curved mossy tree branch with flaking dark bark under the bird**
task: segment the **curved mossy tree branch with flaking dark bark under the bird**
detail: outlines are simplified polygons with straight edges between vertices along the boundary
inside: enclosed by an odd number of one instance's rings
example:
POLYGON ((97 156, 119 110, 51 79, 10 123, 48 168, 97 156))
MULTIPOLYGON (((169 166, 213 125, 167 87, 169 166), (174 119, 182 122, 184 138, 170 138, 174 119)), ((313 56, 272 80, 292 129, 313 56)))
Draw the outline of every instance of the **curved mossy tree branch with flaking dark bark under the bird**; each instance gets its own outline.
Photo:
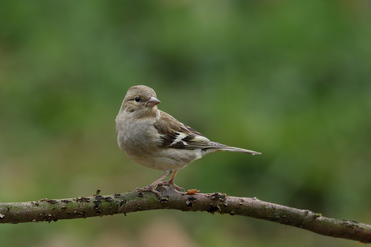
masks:
POLYGON ((187 194, 170 186, 157 186, 162 199, 152 192, 131 191, 111 196, 91 196, 64 200, 42 199, 25 203, 0 203, 0 223, 57 221, 154 209, 207 211, 242 215, 303 228, 325 236, 371 243, 371 226, 351 220, 323 217, 300 210, 260 201, 257 198, 226 194, 187 194))

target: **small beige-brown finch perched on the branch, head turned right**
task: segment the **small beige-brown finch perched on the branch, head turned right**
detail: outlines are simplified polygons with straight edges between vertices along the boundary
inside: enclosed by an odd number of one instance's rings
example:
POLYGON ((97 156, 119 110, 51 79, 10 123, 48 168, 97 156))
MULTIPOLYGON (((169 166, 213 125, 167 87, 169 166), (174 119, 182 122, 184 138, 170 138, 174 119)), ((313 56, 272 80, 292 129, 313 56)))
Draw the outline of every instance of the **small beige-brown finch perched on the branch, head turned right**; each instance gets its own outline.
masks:
POLYGON ((160 192, 154 189, 156 184, 170 184, 178 191, 185 191, 174 183, 178 170, 208 153, 232 151, 261 154, 210 141, 193 128, 158 110, 159 103, 150 87, 130 87, 115 120, 120 149, 142 166, 165 171, 164 176, 146 187, 135 188, 136 191, 152 191, 160 198, 160 192), (161 182, 173 171, 170 180, 161 182))

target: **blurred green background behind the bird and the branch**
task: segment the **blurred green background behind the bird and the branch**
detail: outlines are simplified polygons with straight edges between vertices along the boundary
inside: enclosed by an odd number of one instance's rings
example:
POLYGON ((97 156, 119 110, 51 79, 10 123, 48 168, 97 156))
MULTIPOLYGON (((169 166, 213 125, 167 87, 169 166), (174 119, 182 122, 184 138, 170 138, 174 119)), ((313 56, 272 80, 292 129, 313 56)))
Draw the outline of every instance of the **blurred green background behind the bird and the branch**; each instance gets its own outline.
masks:
MULTIPOLYGON (((0 1, 0 201, 123 193, 163 171, 119 149, 129 87, 219 152, 181 170, 202 193, 371 224, 371 4, 0 1)), ((1 246, 359 246, 206 212, 0 225, 1 246)))

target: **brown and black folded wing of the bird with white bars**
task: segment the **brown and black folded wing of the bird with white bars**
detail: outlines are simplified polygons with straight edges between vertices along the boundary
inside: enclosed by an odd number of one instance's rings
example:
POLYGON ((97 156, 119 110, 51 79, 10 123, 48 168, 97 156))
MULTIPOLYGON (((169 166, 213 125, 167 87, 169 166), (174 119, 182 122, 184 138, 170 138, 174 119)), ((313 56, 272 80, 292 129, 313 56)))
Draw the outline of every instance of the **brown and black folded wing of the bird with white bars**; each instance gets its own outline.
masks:
MULTIPOLYGON (((193 128, 180 123, 174 117, 160 111, 160 119, 154 123, 161 138, 161 146, 173 148, 209 148, 221 145, 211 142, 193 128)), ((224 145, 222 145, 224 146, 224 145)))

